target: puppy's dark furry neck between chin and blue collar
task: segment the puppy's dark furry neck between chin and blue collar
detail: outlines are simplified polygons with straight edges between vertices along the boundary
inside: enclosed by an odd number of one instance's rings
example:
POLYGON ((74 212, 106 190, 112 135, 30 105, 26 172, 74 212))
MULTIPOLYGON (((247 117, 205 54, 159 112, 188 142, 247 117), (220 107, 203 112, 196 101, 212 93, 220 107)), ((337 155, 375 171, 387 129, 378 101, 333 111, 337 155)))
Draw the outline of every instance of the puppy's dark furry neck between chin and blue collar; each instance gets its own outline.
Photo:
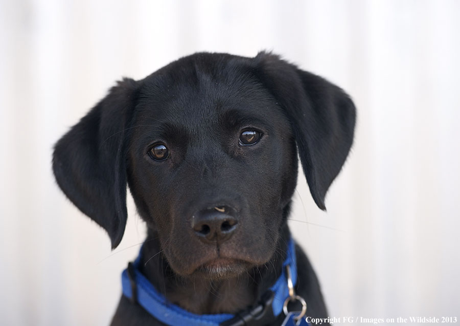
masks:
POLYGON ((181 277, 174 273, 163 255, 155 231, 148 231, 140 269, 169 302, 195 314, 235 314, 254 305, 280 275, 289 229, 284 223, 277 249, 269 262, 236 278, 208 280, 181 277))

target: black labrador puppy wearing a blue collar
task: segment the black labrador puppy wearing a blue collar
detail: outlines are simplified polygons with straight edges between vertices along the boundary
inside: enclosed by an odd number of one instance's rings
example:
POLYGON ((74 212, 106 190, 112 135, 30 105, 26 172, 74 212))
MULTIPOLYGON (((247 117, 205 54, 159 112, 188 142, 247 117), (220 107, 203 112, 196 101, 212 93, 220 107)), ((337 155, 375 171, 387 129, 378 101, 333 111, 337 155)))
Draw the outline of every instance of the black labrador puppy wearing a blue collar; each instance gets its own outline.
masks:
POLYGON ((112 325, 280 325, 283 308, 327 317, 287 218, 297 150, 325 209, 355 114, 336 85, 266 52, 196 53, 118 82, 53 157, 60 188, 112 248, 127 185, 148 226, 112 325))

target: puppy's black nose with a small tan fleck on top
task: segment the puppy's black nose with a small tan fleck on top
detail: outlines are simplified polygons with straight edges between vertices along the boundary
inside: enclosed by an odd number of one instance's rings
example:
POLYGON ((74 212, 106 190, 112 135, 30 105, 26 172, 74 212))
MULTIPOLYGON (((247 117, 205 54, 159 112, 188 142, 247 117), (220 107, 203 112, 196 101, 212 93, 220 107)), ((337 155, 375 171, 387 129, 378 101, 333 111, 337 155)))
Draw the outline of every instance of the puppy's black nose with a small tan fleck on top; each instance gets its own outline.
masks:
POLYGON ((203 242, 224 242, 238 225, 236 212, 227 206, 216 206, 201 210, 192 218, 192 229, 203 242))

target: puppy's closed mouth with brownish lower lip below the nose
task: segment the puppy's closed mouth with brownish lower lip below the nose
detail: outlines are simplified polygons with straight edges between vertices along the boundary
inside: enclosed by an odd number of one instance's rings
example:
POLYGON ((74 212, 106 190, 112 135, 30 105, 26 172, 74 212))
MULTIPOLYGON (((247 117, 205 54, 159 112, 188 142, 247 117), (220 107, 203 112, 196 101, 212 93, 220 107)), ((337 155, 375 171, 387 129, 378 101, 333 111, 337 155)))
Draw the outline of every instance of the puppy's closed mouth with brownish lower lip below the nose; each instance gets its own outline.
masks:
POLYGON ((215 258, 199 266, 194 274, 209 279, 237 277, 251 267, 249 262, 233 258, 215 258))

